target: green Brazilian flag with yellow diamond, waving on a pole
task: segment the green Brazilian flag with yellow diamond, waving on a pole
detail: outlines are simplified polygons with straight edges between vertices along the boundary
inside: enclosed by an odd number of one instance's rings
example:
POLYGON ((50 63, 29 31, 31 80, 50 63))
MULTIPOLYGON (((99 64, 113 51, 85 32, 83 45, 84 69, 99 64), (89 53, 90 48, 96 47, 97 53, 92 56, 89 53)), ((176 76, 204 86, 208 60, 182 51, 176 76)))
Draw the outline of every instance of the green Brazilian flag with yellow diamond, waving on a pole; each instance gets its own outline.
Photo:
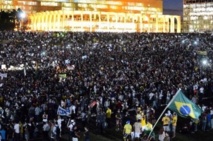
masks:
POLYGON ((181 117, 191 117, 192 119, 199 119, 202 113, 202 109, 189 100, 181 90, 177 91, 168 104, 168 108, 181 117))

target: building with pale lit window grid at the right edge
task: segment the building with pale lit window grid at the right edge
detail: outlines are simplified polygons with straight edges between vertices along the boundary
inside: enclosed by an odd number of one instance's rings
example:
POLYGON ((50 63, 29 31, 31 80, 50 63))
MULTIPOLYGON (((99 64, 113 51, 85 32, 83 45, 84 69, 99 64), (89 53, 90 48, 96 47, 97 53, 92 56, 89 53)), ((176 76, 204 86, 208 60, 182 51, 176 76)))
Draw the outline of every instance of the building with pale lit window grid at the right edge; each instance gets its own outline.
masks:
POLYGON ((213 0, 184 0, 183 31, 213 30, 213 0))

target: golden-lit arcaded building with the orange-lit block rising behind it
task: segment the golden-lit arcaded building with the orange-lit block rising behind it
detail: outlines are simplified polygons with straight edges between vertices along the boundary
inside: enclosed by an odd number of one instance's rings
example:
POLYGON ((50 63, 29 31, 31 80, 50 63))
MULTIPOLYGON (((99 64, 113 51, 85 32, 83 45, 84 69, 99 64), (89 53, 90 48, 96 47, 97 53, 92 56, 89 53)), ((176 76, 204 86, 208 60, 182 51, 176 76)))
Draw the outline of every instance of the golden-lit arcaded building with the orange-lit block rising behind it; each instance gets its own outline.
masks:
POLYGON ((37 0, 32 3, 34 1, 16 0, 22 5, 20 8, 27 11, 32 31, 181 31, 180 16, 163 15, 162 0, 37 0))

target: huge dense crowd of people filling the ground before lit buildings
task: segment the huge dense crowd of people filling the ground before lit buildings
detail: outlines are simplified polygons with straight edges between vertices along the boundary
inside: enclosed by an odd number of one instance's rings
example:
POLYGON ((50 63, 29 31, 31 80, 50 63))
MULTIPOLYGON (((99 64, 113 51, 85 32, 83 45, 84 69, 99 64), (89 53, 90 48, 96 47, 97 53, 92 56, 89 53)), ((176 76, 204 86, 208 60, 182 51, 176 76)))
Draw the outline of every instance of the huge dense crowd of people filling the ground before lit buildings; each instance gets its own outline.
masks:
POLYGON ((0 41, 1 140, 29 141, 42 126, 45 140, 67 128, 70 140, 82 129, 89 141, 94 117, 101 133, 115 127, 147 140, 179 88, 203 109, 196 125, 213 128, 210 34, 1 31, 0 41))

